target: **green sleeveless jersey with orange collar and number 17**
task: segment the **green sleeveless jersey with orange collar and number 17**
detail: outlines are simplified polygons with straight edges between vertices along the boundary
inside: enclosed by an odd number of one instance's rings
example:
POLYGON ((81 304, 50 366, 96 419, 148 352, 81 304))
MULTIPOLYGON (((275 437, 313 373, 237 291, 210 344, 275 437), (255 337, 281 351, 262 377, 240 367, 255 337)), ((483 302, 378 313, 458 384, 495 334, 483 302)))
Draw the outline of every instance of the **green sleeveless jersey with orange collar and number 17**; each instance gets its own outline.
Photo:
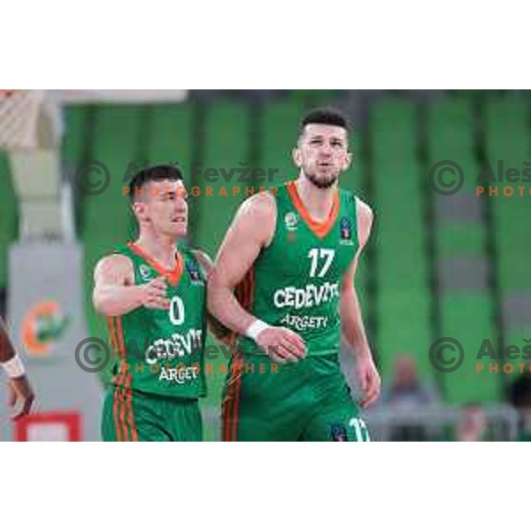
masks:
MULTIPOLYGON (((308 356, 336 354, 340 347, 342 277, 358 250, 356 196, 338 190, 329 218, 318 223, 304 208, 295 183, 279 187, 273 241, 236 289, 255 317, 301 335, 308 356)), ((258 347, 240 337, 238 349, 258 347)))

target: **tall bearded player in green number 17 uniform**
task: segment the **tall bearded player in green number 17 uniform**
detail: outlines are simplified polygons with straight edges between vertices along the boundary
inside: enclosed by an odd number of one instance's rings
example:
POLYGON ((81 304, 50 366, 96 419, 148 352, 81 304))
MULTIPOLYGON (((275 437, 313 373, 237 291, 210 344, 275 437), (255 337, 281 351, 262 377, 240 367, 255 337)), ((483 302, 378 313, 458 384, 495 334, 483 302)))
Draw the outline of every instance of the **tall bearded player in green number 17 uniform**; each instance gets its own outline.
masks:
POLYGON ((339 189, 350 165, 337 112, 303 120, 298 179, 242 204, 209 277, 209 311, 237 336, 223 402, 225 441, 368 441, 340 370, 357 357, 361 405, 379 395, 354 275, 373 212, 339 189))

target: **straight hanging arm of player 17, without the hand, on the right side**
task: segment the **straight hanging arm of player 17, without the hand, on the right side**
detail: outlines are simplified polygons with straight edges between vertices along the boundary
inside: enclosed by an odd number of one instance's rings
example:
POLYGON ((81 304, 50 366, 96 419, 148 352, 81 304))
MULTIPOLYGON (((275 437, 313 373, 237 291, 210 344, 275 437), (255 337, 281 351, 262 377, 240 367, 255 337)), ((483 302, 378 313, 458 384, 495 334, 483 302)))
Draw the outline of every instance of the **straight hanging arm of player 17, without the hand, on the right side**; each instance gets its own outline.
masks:
POLYGON ((373 212, 367 204, 358 201, 359 249, 342 280, 340 309, 343 335, 358 357, 368 358, 371 358, 371 350, 367 342, 358 295, 354 286, 354 277, 358 269, 359 257, 371 234, 372 225, 373 212))

